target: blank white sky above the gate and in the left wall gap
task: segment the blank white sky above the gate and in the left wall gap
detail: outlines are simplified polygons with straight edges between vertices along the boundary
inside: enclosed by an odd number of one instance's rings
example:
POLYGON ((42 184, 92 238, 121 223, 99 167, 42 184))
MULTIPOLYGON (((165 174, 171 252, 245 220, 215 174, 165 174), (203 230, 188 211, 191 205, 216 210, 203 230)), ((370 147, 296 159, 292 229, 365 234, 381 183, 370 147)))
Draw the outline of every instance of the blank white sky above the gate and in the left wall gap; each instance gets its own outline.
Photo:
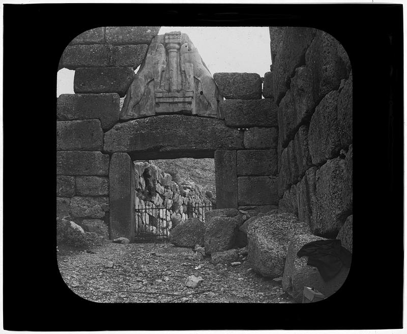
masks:
MULTIPOLYGON (((270 71, 270 34, 267 26, 162 26, 159 35, 171 31, 181 31, 189 36, 212 75, 218 72, 247 72, 264 76, 270 71)), ((74 94, 74 74, 75 71, 65 68, 58 71, 56 96, 74 94)))

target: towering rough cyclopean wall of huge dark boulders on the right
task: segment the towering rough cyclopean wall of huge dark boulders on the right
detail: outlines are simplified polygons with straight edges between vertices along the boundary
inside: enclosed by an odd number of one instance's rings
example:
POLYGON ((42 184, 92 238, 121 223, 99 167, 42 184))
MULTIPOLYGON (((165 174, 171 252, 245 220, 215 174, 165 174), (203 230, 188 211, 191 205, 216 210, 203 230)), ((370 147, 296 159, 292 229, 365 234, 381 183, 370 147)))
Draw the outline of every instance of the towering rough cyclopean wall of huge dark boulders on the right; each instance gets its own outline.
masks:
POLYGON ((278 110, 279 209, 308 222, 313 234, 335 238, 353 221, 351 63, 323 31, 270 27, 270 36, 264 96, 278 110))

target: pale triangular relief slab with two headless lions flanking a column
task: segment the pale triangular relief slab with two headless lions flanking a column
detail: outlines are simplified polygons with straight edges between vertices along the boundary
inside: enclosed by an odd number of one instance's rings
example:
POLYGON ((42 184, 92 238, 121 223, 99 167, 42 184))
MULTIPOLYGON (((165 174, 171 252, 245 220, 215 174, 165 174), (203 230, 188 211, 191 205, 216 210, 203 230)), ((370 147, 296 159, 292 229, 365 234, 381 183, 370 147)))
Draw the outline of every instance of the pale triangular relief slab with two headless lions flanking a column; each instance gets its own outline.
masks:
POLYGON ((223 119, 215 80, 186 34, 171 32, 151 42, 127 90, 121 120, 160 114, 223 119))

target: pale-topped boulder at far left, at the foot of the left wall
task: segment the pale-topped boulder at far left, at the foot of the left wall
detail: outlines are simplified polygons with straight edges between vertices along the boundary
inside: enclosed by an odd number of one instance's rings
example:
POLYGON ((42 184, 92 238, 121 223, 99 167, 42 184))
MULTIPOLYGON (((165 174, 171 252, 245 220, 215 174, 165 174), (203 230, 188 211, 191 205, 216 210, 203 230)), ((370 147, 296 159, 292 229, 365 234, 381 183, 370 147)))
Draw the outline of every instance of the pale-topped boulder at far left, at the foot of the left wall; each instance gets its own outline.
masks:
POLYGON ((73 221, 56 218, 56 244, 65 244, 78 248, 88 246, 83 229, 73 221))

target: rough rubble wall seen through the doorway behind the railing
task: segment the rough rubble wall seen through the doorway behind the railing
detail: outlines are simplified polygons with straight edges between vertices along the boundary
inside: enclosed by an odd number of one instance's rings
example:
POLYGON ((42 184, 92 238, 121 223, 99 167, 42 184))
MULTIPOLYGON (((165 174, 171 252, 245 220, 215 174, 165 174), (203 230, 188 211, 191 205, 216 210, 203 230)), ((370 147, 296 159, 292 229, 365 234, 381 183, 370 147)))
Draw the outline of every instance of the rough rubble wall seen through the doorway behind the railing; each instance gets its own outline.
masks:
MULTIPOLYGON (((194 182, 178 185, 154 161, 134 162, 136 233, 170 235, 188 218, 205 220, 205 208, 213 206, 212 193, 194 182), (208 194, 210 197, 208 197, 208 194)), ((181 231, 181 230, 180 230, 181 231)), ((194 246, 200 240, 192 240, 194 246)), ((180 246, 184 245, 181 241, 180 246)))

